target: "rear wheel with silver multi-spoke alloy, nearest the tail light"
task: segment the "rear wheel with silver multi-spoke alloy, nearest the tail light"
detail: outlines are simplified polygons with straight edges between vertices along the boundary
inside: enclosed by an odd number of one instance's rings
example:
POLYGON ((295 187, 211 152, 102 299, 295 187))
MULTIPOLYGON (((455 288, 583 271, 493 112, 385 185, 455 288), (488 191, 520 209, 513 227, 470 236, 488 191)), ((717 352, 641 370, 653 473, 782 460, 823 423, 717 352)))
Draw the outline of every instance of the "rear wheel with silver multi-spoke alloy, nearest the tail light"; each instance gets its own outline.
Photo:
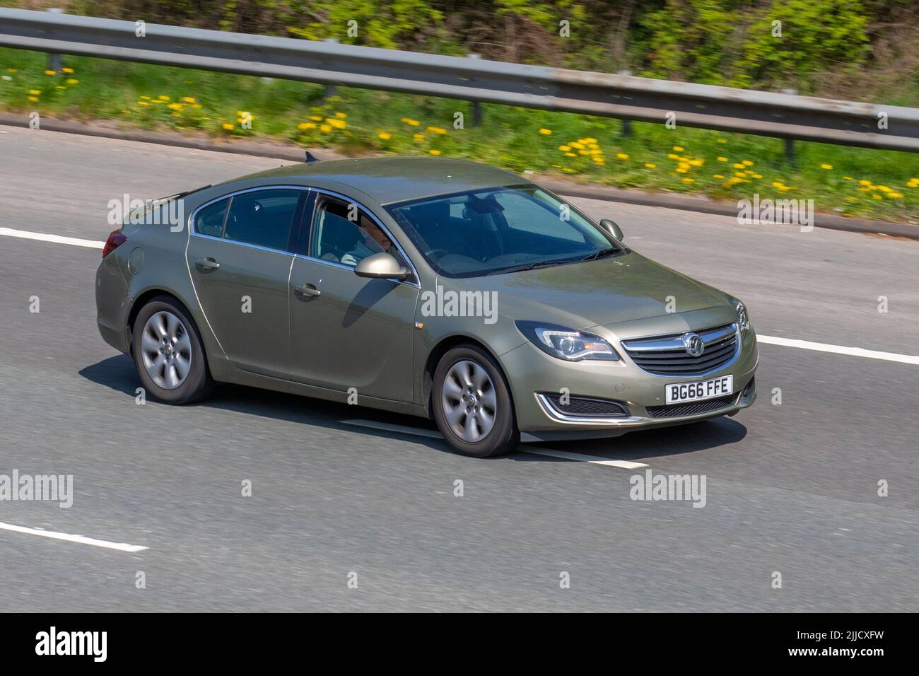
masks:
POLYGON ((158 296, 134 320, 131 352, 147 392, 166 404, 189 404, 212 385, 198 327, 173 299, 158 296))

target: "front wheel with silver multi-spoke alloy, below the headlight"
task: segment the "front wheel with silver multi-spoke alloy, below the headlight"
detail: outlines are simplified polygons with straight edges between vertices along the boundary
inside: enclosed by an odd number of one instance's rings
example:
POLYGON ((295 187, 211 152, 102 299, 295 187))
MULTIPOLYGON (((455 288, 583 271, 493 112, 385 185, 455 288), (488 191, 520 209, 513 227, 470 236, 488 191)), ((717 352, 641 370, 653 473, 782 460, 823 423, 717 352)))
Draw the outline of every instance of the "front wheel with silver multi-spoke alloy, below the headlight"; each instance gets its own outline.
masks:
POLYGON ((475 346, 450 349, 434 373, 434 419, 457 453, 485 458, 516 449, 514 406, 491 355, 475 346))

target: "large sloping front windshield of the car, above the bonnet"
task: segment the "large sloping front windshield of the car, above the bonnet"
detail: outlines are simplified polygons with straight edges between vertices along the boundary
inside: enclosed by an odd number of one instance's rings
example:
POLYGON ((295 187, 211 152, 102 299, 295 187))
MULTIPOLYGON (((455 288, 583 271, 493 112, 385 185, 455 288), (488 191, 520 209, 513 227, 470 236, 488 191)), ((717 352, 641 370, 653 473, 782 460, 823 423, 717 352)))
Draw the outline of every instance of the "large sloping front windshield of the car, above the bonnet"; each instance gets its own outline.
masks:
POLYGON ((620 252, 570 205, 537 186, 473 190, 387 209, 446 277, 479 277, 620 252))

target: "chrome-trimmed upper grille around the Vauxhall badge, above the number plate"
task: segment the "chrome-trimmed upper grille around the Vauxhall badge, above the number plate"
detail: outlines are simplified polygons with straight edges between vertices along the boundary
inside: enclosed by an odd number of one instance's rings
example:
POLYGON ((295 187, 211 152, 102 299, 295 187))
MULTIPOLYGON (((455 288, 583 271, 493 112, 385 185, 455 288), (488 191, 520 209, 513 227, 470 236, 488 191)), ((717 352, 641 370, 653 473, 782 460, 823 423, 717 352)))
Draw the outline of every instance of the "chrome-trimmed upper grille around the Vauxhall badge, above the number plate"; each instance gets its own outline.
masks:
POLYGON ((683 343, 686 334, 682 333, 625 340, 622 347, 643 371, 655 375, 703 375, 718 371, 737 356, 740 346, 736 324, 707 328, 695 333, 702 338, 705 346, 698 357, 686 352, 683 343))

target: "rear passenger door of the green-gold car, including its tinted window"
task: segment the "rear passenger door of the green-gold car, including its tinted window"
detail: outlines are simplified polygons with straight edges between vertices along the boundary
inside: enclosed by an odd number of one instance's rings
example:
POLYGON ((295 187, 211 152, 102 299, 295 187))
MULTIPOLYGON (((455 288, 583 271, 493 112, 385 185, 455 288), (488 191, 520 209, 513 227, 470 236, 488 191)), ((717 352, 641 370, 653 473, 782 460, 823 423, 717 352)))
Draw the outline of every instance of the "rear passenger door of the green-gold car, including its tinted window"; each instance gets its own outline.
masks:
POLYGON ((227 358, 290 378, 289 274, 306 189, 251 189, 201 207, 187 260, 199 303, 227 358))

